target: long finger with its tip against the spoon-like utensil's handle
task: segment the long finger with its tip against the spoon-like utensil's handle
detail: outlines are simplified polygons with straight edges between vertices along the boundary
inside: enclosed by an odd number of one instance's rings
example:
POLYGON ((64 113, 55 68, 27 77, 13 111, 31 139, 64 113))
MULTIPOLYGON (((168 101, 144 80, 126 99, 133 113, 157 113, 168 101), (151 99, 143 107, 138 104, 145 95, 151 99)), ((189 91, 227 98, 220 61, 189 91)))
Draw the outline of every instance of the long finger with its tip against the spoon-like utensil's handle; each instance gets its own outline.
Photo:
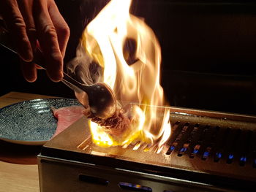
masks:
POLYGON ((39 45, 45 55, 45 68, 53 81, 60 81, 63 77, 63 57, 59 48, 56 28, 50 19, 48 1, 34 1, 34 22, 37 28, 39 45))

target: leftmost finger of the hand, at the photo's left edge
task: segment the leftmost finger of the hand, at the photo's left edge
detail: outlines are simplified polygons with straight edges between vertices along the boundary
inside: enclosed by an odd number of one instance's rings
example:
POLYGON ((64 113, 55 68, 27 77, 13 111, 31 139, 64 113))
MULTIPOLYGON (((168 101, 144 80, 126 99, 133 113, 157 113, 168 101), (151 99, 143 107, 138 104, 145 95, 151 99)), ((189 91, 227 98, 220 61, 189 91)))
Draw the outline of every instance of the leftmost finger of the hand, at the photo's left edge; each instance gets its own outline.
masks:
POLYGON ((14 46, 24 61, 33 59, 32 48, 29 42, 29 37, 26 34, 26 23, 20 13, 17 1, 1 0, 1 12, 14 42, 14 46), (3 8, 4 7, 4 8, 3 8))

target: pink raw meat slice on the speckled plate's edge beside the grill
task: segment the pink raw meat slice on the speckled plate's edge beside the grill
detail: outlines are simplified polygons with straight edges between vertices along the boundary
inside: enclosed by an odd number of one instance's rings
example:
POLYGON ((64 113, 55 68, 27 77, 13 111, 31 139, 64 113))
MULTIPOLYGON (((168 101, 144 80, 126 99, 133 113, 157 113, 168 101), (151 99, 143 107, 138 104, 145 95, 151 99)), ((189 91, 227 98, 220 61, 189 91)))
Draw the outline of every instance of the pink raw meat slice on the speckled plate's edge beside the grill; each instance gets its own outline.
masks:
POLYGON ((53 137, 56 137, 56 135, 64 131, 65 128, 82 118, 85 108, 82 106, 70 106, 52 110, 53 115, 58 119, 57 128, 55 134, 53 134, 53 137))

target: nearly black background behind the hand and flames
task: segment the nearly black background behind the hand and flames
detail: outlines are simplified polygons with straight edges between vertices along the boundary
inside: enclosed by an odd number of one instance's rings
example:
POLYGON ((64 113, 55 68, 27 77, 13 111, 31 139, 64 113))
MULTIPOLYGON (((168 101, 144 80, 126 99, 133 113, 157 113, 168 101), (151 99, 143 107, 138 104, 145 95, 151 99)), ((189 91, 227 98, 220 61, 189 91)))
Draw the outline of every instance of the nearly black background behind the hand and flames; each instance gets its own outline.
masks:
MULTIPOLYGON (((70 28, 65 62, 86 24, 108 1, 56 1, 70 28)), ((134 0, 162 47, 162 86, 170 105, 256 115, 256 4, 253 1, 134 0)), ((20 74, 18 57, 0 47, 1 91, 73 98, 61 82, 39 71, 37 82, 20 74)))

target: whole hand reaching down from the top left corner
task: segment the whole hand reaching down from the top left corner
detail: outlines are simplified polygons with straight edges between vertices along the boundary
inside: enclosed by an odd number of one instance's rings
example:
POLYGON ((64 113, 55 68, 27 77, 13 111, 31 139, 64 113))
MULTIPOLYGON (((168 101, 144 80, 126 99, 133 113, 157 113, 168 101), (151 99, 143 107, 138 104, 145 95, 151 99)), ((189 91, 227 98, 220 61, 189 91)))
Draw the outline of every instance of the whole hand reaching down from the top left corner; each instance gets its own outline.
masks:
POLYGON ((69 39, 69 27, 53 0, 1 0, 0 15, 10 31, 20 56, 23 76, 29 82, 37 80, 34 50, 39 47, 45 57, 50 80, 63 77, 63 58, 69 39))

